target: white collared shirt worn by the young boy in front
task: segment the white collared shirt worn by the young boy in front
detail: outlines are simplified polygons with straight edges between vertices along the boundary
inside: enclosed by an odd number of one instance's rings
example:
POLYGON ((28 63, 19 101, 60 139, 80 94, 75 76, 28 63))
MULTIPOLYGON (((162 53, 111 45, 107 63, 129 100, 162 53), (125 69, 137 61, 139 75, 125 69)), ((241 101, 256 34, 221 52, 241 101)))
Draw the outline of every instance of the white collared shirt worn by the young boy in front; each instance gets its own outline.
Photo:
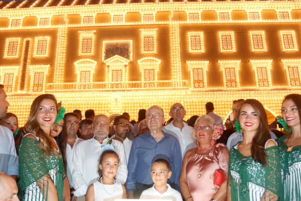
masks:
POLYGON ((182 201, 181 193, 170 187, 169 184, 166 185, 167 190, 161 194, 155 189, 154 184, 153 187, 146 189, 141 193, 140 199, 171 199, 172 201, 182 201))

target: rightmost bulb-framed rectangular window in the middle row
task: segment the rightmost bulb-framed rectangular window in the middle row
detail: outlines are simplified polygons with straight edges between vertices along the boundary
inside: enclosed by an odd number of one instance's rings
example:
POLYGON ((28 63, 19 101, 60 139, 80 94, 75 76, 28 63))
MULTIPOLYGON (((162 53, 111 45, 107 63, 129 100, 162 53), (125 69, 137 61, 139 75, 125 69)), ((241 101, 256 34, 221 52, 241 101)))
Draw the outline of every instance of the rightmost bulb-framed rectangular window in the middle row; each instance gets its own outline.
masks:
POLYGON ((281 30, 280 39, 282 51, 296 51, 298 52, 298 45, 296 42, 296 34, 294 30, 281 30))

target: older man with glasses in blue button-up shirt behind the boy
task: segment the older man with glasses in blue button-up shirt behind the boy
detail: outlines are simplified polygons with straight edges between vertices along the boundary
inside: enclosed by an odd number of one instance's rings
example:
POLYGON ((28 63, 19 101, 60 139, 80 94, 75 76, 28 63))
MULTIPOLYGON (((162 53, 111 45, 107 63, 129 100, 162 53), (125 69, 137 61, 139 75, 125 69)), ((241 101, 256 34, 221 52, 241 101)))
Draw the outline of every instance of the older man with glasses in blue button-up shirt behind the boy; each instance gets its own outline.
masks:
POLYGON ((165 121, 163 109, 157 105, 146 111, 146 122, 150 129, 139 135, 132 144, 126 190, 129 198, 139 198, 142 191, 153 186, 151 179, 151 162, 154 157, 164 155, 169 159, 172 175, 167 183, 174 189, 179 189, 179 176, 182 167, 182 153, 178 140, 162 131, 165 121))

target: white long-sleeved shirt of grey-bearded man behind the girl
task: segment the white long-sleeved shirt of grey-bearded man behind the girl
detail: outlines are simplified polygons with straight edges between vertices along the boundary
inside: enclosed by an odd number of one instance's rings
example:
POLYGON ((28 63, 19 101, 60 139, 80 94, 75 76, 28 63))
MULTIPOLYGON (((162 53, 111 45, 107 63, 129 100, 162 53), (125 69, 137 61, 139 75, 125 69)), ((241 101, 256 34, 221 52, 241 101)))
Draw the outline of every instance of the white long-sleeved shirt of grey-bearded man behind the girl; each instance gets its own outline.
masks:
MULTIPOLYGON (((82 141, 79 143, 73 155, 73 187, 76 189, 74 195, 76 197, 84 196, 88 186, 98 180, 98 160, 101 154, 101 146, 106 145, 110 138, 104 139, 103 143, 99 143, 95 138, 82 141)), ((126 155, 124 147, 118 140, 113 140, 112 145, 114 151, 119 156, 119 167, 116 174, 116 181, 124 184, 128 174, 126 166, 126 155)))

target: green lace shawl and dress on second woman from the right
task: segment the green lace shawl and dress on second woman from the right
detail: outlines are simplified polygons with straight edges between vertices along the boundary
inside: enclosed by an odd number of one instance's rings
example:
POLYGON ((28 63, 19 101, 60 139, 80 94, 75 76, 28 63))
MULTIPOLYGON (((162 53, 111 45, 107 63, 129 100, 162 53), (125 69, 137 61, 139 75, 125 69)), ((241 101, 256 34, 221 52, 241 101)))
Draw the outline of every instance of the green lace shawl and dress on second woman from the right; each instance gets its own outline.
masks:
POLYGON ((228 184, 231 186, 231 200, 282 200, 278 147, 265 149, 267 166, 263 167, 251 155, 245 157, 238 152, 237 145, 230 150, 229 158, 228 184))

